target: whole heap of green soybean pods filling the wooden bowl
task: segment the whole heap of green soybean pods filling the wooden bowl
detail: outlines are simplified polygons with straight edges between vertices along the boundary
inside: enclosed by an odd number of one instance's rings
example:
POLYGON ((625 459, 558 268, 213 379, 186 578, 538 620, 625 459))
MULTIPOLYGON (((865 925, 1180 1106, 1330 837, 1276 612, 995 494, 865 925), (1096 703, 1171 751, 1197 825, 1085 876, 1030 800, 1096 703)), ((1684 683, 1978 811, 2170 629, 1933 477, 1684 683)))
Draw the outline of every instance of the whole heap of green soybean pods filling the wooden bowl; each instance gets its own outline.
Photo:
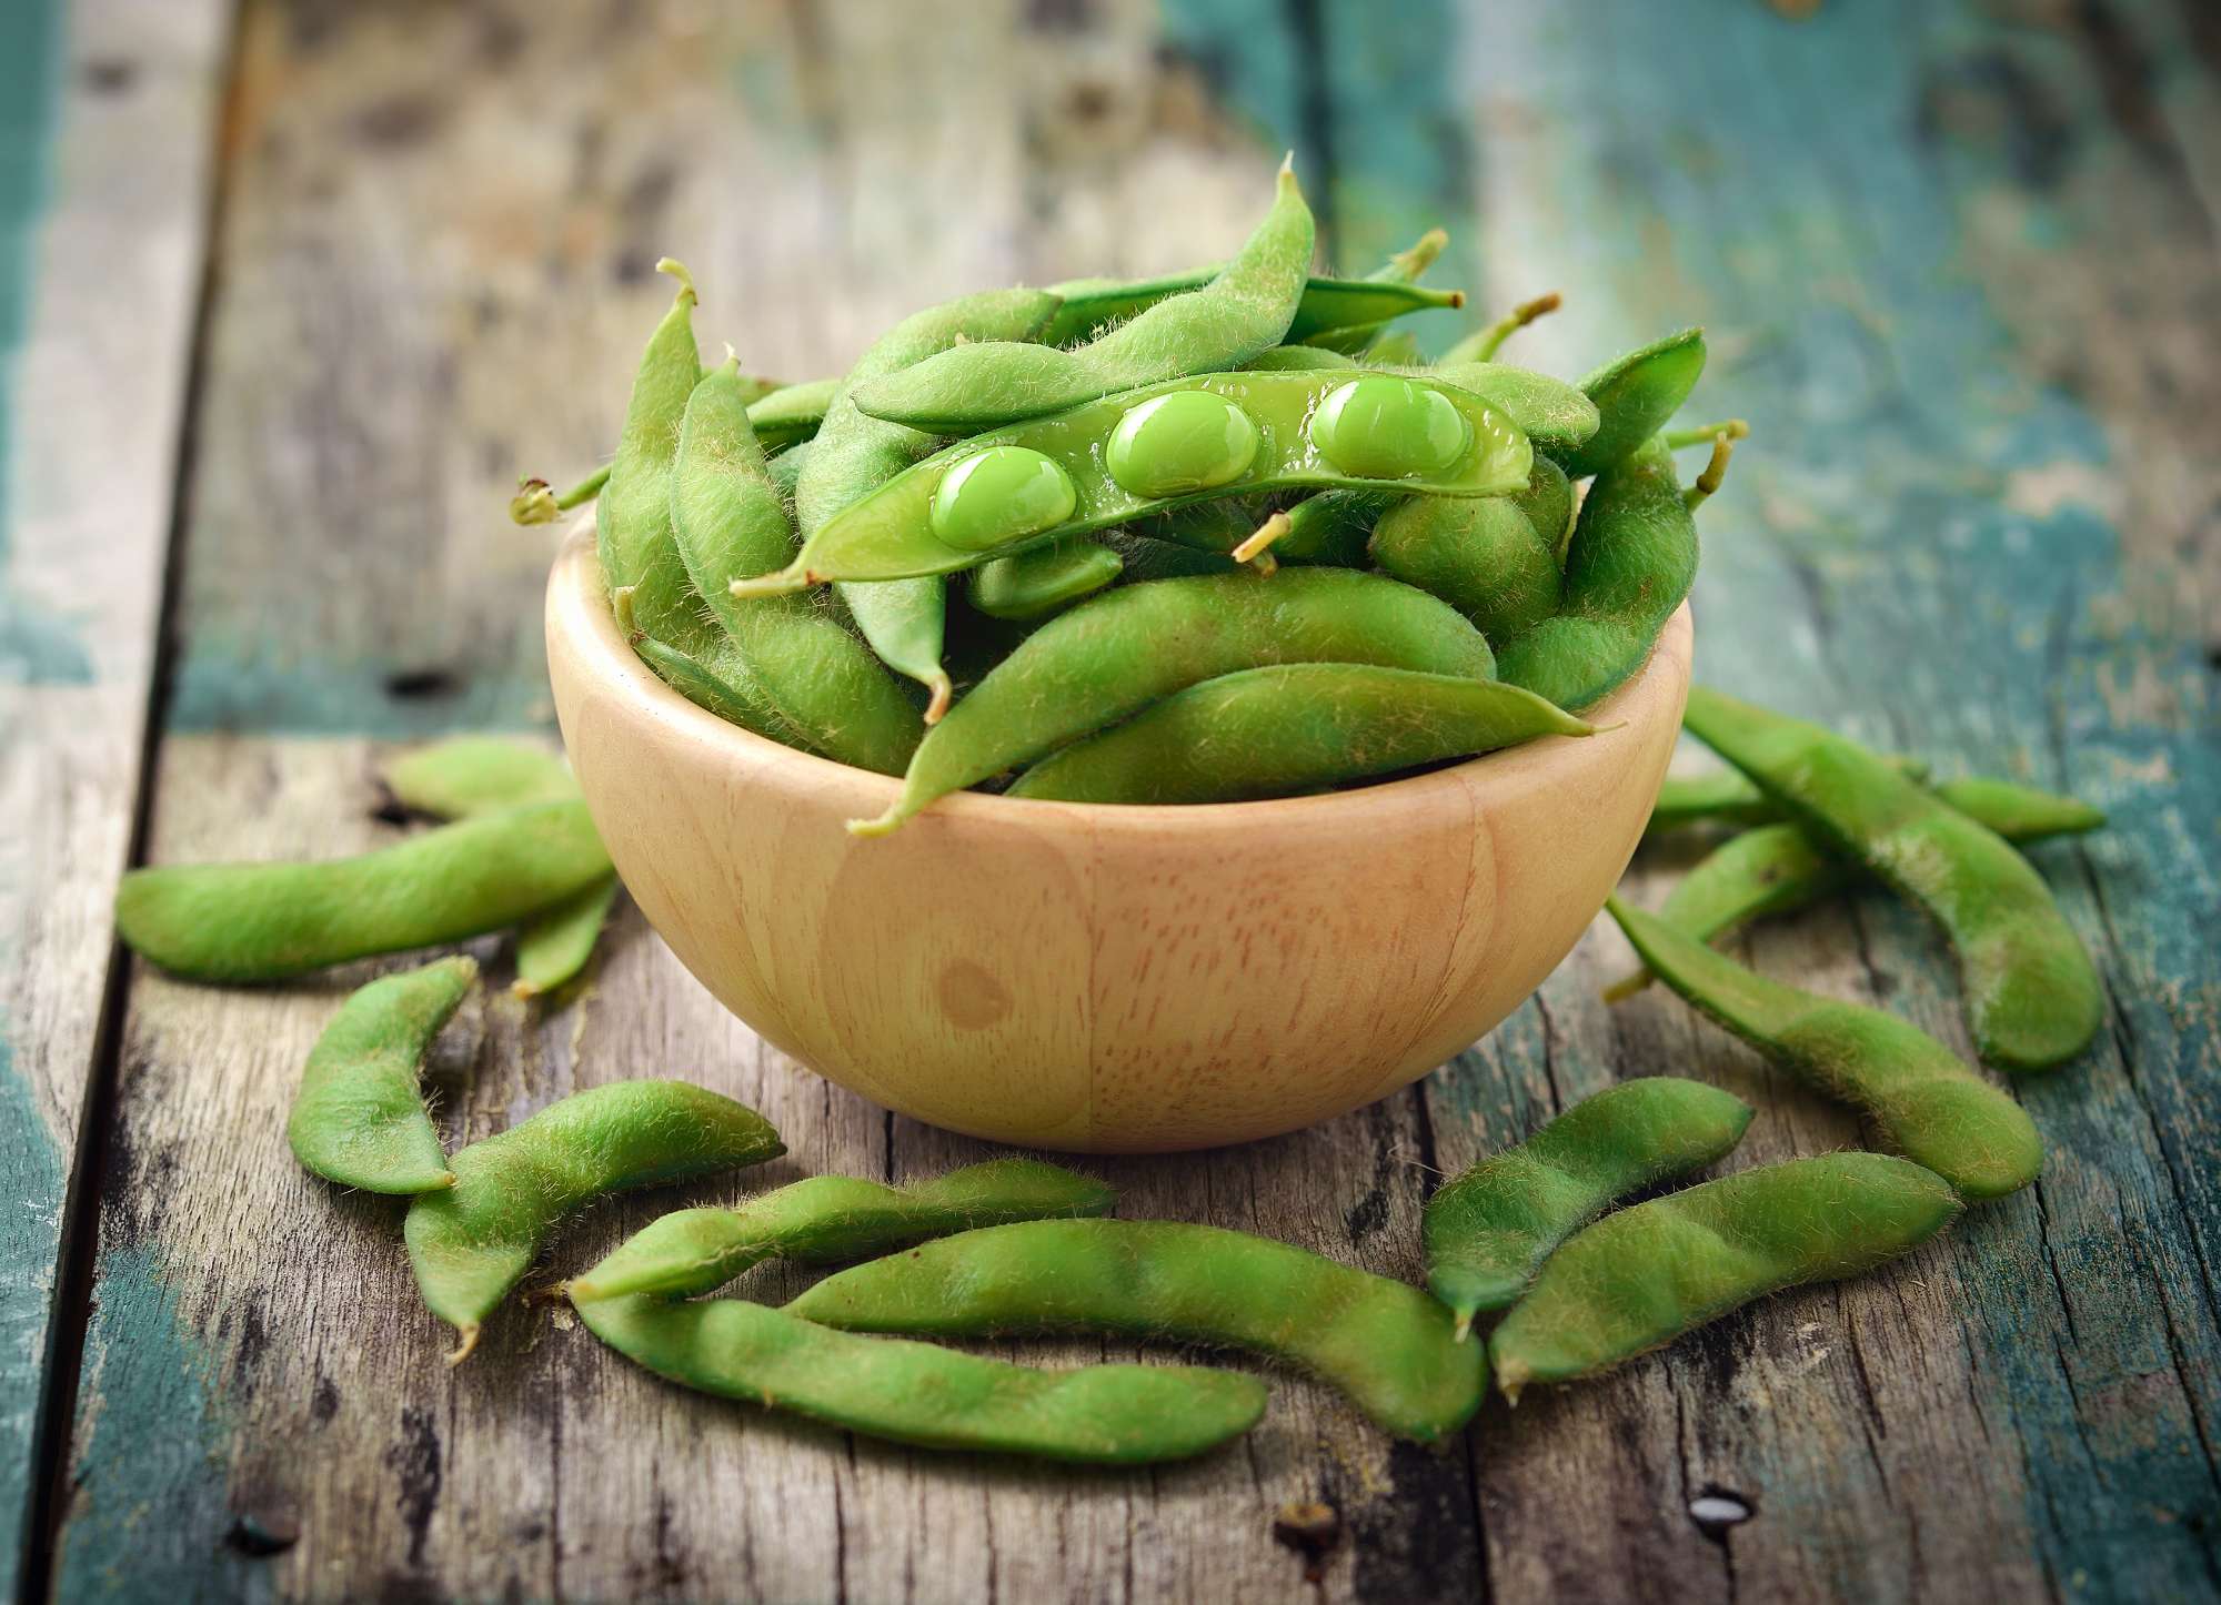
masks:
POLYGON ((704 366, 664 262, 615 460, 511 513, 597 499, 664 682, 902 775, 862 835, 964 788, 1239 801, 1588 735, 1688 595, 1743 426, 1661 433, 1695 329, 1579 386, 1495 362, 1555 297, 1426 364, 1393 320, 1461 304, 1417 282, 1441 244, 1317 277, 1284 166, 1224 266, 966 295, 788 386, 704 366), (1686 491, 1679 446, 1715 453, 1686 491))

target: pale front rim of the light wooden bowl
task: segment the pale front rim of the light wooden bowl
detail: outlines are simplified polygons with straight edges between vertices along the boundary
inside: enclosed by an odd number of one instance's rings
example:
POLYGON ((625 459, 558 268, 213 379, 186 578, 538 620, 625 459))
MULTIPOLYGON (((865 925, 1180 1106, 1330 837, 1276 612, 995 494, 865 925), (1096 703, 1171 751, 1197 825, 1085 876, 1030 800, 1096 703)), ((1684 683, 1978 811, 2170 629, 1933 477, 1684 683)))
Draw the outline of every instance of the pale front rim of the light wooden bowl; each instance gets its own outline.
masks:
MULTIPOLYGON (((755 730, 720 719, 706 708, 697 708, 666 686, 633 653, 631 642, 617 628, 609 597, 602 590, 602 564, 595 551, 591 511, 573 522, 549 571, 546 630, 551 637, 562 635, 580 648, 582 668, 600 679, 631 715, 660 724, 666 733, 684 737, 693 746, 722 748, 728 761, 737 761, 744 768, 777 768, 782 770, 782 784, 793 781, 802 790, 844 793, 842 806, 853 808, 857 817, 882 812, 902 788, 902 779, 895 775, 880 775, 773 741, 755 730)), ((1470 808, 1477 795, 1484 797, 1497 788, 1519 793, 1537 784, 1550 784, 1548 770, 1579 757, 1579 748, 1586 748, 1588 741, 1608 739, 1619 726, 1632 724, 1632 715, 1644 710, 1641 704, 1648 704, 1657 693, 1652 682, 1659 675, 1675 673, 1677 664, 1690 662, 1690 606, 1684 602, 1666 619, 1644 666, 1610 697, 1581 715, 1597 726, 1597 733, 1588 737, 1544 735, 1497 753, 1481 753, 1459 764, 1446 764, 1424 775, 1406 775, 1308 797, 1222 804, 1082 804, 962 790, 935 799, 911 824, 939 817, 946 821, 1028 830, 1064 824, 1086 832, 1166 828, 1255 832, 1275 821, 1290 826, 1302 821, 1306 828, 1317 828, 1326 824, 1321 817, 1337 812, 1373 815, 1381 808, 1397 812, 1435 806, 1470 808)), ((1679 695, 1670 697, 1670 701, 1679 704, 1679 695)))

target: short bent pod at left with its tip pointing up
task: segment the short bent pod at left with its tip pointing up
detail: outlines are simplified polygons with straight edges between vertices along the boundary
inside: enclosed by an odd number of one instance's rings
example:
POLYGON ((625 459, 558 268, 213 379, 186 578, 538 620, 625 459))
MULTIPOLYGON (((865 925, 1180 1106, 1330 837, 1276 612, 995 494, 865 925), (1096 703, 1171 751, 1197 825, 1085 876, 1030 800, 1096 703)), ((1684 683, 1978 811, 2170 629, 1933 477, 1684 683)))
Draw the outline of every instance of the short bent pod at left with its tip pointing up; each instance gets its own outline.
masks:
POLYGON ((304 1170, 364 1192, 455 1185, 418 1072, 475 979, 475 959, 438 959, 382 975, 340 1003, 309 1050, 284 1128, 304 1170))

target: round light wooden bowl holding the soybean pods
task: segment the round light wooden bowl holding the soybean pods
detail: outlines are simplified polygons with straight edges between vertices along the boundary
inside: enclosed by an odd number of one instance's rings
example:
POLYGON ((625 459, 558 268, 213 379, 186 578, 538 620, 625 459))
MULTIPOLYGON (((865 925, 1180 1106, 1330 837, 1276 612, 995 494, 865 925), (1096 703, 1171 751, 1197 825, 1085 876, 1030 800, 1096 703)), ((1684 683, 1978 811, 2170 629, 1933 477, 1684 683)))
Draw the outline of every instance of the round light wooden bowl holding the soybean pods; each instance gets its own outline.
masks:
POLYGON ((895 781, 669 690, 617 633, 591 531, 555 559, 546 637, 593 821, 702 986, 891 1110, 1093 1152, 1310 1125, 1493 1030, 1635 852, 1690 668, 1681 608, 1595 737, 1288 801, 964 793, 860 839, 842 821, 895 781))

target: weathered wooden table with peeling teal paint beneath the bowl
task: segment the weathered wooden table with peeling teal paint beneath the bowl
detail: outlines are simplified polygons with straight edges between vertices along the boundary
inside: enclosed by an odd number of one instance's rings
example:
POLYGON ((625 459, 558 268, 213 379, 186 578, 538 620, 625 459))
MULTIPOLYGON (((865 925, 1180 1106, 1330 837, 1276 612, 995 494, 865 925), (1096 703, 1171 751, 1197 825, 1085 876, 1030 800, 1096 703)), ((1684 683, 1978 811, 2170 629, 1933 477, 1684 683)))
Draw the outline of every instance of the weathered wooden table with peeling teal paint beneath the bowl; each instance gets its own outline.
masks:
MULTIPOLYGON (((1304 1563, 1273 1514, 1324 1498, 1333 1598, 2212 1598, 2221 29, 2199 0, 1790 9, 0 9, 9 1581, 1279 1598, 1304 1563), (1439 220, 1479 306, 1561 289, 1541 366, 1712 329, 1695 411, 1757 433, 1706 511, 1706 679, 2112 810, 2037 852, 2110 986, 2099 1046, 2017 1088, 2043 1181, 1890 1274, 1493 1401, 1448 1454, 1297 1381, 1175 1470, 911 1454, 680 1394, 522 1305, 444 1370, 395 1210, 282 1143, 373 966, 178 986, 115 955, 118 872, 386 841, 395 744, 549 735, 551 539, 502 504, 609 448, 660 253, 706 340, 806 377, 928 300, 1219 253, 1284 147, 1333 260, 1439 220), (1750 1518, 1692 1521, 1721 1492, 1750 1518)), ((1739 950, 1966 1048, 1948 957, 1881 897, 1739 950)), ((1415 1276, 1435 1177, 1624 1074, 1743 1092, 1750 1159, 1857 1141, 1672 999, 1604 1008, 1621 959, 1590 932, 1328 1128, 1102 1172, 1128 1214, 1415 1276)), ((680 1072, 777 1121, 766 1183, 986 1152, 780 1061, 637 915, 582 1001, 489 992, 451 1041, 453 1141, 680 1072)))

